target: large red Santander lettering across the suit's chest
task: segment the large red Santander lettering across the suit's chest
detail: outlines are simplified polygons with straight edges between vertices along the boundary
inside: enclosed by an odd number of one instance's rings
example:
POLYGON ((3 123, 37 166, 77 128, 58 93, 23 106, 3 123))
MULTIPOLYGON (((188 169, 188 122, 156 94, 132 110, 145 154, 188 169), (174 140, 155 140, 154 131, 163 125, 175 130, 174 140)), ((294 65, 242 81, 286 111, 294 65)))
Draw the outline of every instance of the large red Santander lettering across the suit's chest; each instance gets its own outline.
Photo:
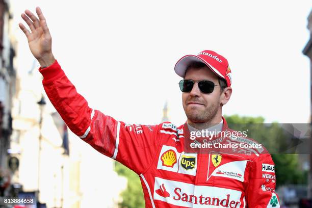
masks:
POLYGON ((173 199, 176 201, 181 200, 193 204, 214 205, 230 208, 239 207, 238 205, 241 203, 240 201, 230 200, 230 194, 225 194, 223 198, 204 196, 202 194, 200 196, 195 196, 184 193, 180 188, 174 189, 173 199))

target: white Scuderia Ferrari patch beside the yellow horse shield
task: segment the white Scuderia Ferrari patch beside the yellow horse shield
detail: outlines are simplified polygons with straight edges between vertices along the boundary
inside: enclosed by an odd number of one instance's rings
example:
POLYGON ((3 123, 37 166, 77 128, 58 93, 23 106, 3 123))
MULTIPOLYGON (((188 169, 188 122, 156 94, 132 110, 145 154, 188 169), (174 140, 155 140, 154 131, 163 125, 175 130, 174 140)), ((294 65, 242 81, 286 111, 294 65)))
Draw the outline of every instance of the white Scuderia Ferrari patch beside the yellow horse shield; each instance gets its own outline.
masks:
POLYGON ((244 174, 246 169, 247 160, 229 162, 217 167, 212 173, 213 176, 228 177, 244 181, 244 174))

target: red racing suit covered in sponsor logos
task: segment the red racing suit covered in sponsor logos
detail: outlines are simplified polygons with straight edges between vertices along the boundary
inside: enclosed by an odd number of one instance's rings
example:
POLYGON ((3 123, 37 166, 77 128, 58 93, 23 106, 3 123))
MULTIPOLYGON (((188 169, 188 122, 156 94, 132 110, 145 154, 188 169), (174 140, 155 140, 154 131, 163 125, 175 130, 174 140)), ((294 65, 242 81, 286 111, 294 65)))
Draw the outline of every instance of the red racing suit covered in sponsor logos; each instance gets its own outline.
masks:
MULTIPOLYGON (((274 163, 266 150, 185 152, 185 125, 117 121, 91 109, 57 61, 39 71, 47 96, 71 131, 140 176, 146 207, 279 207, 274 163)), ((219 139, 255 143, 247 138, 219 139)))

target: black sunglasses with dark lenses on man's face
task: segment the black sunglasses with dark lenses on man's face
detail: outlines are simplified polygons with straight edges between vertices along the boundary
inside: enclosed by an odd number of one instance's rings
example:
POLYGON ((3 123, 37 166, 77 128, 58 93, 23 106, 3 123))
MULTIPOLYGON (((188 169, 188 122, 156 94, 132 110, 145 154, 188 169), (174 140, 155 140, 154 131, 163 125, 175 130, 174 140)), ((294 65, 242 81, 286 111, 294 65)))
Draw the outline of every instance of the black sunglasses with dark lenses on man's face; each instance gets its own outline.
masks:
POLYGON ((208 80, 194 81, 194 80, 181 80, 179 83, 182 92, 191 92, 195 83, 198 83, 198 88, 202 93, 212 93, 215 89, 214 82, 208 80))

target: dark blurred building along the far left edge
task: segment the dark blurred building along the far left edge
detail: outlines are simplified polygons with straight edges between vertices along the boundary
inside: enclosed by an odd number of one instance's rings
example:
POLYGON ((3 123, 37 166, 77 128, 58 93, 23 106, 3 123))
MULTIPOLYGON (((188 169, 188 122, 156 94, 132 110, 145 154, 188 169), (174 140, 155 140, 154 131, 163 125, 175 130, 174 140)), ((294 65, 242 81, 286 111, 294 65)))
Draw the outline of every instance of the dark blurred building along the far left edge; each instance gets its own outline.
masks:
POLYGON ((8 154, 12 133, 12 96, 15 93, 14 38, 11 31, 12 16, 8 1, 0 0, 0 190, 9 186, 8 154), (3 178, 3 176, 6 176, 3 178))

